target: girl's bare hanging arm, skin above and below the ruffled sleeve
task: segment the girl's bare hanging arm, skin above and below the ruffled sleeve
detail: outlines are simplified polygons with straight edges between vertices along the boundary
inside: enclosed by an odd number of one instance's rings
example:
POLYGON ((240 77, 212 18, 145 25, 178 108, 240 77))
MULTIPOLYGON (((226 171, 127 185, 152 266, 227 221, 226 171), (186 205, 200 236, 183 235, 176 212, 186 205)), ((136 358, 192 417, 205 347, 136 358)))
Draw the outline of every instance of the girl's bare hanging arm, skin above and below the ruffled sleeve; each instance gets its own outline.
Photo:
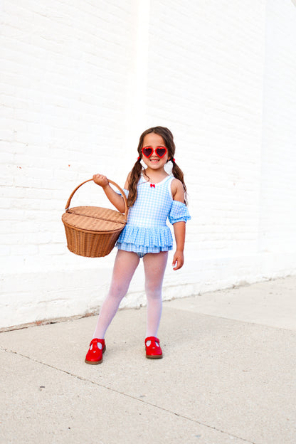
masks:
MULTIPOLYGON (((184 188, 181 181, 174 179, 171 183, 171 194, 174 201, 179 201, 184 203, 184 188)), ((174 235, 176 238, 176 252, 173 258, 174 270, 179 270, 179 268, 184 265, 184 244, 185 244, 185 233, 186 233, 186 223, 176 222, 174 223, 174 235)))

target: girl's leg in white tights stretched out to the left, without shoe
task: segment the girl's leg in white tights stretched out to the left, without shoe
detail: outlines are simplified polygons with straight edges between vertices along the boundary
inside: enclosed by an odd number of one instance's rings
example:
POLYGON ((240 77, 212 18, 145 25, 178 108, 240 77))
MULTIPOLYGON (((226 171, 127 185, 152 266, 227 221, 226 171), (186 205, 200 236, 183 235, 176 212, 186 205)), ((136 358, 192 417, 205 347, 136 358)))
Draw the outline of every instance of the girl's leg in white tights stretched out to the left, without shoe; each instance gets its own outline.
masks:
POLYGON ((117 251, 110 290, 102 303, 93 339, 104 339, 107 328, 115 317, 121 300, 127 294, 129 283, 138 265, 139 257, 136 253, 124 250, 117 251))

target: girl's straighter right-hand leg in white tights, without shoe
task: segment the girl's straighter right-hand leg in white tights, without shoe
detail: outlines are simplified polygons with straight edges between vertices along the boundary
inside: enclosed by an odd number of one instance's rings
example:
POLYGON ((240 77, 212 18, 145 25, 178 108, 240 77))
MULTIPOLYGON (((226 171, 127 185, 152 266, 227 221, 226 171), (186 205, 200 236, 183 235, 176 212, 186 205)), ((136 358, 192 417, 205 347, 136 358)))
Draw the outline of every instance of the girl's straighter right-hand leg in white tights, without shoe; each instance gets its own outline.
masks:
POLYGON ((148 253, 143 258, 147 295, 146 337, 157 337, 159 322, 162 317, 162 282, 167 258, 167 251, 148 253))

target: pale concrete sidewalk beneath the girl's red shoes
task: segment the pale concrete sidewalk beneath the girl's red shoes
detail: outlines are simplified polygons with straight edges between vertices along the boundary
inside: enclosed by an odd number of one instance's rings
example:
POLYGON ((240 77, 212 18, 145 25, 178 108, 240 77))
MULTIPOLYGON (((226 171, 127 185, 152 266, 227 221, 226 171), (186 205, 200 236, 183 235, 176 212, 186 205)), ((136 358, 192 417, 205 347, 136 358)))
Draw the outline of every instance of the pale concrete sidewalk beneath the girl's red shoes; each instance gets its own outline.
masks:
POLYGON ((0 334, 1 444, 296 443, 296 277, 122 310, 98 366, 96 317, 0 334))

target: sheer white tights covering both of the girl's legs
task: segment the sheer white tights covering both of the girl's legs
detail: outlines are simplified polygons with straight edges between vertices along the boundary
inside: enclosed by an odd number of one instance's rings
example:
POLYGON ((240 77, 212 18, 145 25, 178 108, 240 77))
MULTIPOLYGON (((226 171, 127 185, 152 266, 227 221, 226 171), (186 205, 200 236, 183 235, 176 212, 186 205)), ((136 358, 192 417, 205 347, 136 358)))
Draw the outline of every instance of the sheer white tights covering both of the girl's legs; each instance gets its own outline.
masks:
MULTIPOLYGON (((168 258, 167 251, 144 255, 145 291, 147 295, 146 337, 157 337, 162 317, 162 281, 168 258)), ((127 294, 129 283, 139 265, 137 253, 118 250, 115 258, 110 290, 102 303, 93 338, 104 339, 107 328, 127 294)))

